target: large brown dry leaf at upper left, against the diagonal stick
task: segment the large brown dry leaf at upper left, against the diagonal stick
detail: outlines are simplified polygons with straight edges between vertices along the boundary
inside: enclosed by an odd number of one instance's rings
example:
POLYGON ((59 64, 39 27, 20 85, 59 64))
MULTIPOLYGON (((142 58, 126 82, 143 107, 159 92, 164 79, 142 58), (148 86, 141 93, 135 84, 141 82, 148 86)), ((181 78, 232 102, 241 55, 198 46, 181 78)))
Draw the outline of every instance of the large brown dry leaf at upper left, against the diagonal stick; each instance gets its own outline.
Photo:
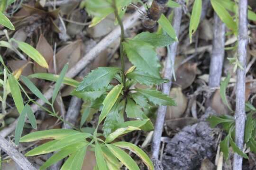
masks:
MULTIPOLYGON (((66 63, 68 63, 68 68, 72 68, 77 61, 80 59, 81 55, 81 40, 72 42, 64 46, 56 54, 56 74, 59 74, 66 63)), ((55 73, 54 71, 54 61, 53 59, 49 63, 49 72, 55 73)))

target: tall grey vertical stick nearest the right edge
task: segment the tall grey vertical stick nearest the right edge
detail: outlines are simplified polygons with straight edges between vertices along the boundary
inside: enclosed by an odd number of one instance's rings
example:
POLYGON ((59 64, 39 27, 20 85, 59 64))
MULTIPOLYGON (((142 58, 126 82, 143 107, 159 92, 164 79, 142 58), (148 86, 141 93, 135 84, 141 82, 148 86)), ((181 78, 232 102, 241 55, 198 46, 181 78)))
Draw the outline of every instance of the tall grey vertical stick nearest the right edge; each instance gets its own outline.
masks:
MULTIPOLYGON (((239 34, 238 34, 238 60, 243 69, 237 70, 236 88, 236 144, 242 150, 245 131, 245 86, 246 86, 246 57, 247 57, 247 0, 239 0, 239 34)), ((243 158, 234 154, 233 170, 242 170, 243 158)))

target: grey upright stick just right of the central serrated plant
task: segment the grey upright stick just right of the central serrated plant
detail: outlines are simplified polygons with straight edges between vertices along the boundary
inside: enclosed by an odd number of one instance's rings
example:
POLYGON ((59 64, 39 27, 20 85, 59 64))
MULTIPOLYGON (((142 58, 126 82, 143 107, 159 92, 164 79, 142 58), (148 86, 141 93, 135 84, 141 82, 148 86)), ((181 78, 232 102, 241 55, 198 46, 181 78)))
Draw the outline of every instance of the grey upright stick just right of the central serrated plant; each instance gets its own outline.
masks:
MULTIPOLYGON (((184 1, 182 0, 181 7, 174 9, 173 26, 174 26, 174 30, 175 30, 177 36, 179 35, 179 31, 180 31, 183 3, 184 3, 184 1)), ((165 93, 167 95, 169 95, 170 88, 172 85, 172 82, 171 82, 172 75, 173 75, 172 67, 174 64, 175 56, 176 56, 177 46, 178 46, 178 42, 174 42, 169 46, 170 52, 165 61, 166 64, 165 64, 164 78, 170 80, 168 83, 165 83, 163 85, 163 93, 165 93)), ((164 125, 164 121, 165 121, 165 113, 166 113, 166 106, 160 106, 157 111, 157 117, 155 120, 155 130, 154 130, 153 141, 152 141, 152 159, 154 161, 158 161, 158 154, 159 154, 160 142, 161 142, 160 138, 162 136, 163 125, 164 125)), ((155 167, 155 168, 157 168, 157 167, 155 167)))

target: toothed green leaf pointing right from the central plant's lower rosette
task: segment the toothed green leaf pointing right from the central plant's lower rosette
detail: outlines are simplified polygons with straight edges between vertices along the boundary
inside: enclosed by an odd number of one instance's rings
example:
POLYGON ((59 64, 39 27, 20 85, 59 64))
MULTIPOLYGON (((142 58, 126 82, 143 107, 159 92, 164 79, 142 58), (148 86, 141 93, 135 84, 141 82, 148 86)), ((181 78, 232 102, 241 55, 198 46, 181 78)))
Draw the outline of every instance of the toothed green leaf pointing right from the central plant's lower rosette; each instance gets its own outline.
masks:
POLYGON ((169 105, 176 106, 175 101, 170 98, 168 95, 158 91, 151 89, 136 89, 138 93, 144 95, 150 102, 158 105, 169 105))

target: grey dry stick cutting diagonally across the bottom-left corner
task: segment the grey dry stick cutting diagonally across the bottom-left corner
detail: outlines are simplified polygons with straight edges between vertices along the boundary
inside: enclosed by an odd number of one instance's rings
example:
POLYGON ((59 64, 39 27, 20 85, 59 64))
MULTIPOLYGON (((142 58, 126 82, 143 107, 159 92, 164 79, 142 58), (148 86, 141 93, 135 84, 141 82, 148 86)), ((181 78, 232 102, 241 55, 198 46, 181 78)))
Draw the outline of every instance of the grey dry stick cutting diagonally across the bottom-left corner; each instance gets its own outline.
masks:
POLYGON ((0 136, 0 148, 15 161, 22 170, 37 170, 23 154, 17 151, 5 138, 0 136))

